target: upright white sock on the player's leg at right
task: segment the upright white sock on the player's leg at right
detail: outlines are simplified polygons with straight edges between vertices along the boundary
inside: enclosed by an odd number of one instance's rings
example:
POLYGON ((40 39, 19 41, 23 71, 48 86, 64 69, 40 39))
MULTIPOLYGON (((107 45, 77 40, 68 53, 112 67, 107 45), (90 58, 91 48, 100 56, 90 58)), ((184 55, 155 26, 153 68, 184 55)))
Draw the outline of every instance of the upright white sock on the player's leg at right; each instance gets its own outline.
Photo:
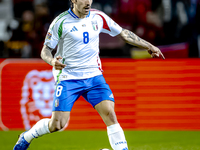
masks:
POLYGON ((114 150, 128 150, 124 132, 119 124, 107 127, 110 145, 114 150))

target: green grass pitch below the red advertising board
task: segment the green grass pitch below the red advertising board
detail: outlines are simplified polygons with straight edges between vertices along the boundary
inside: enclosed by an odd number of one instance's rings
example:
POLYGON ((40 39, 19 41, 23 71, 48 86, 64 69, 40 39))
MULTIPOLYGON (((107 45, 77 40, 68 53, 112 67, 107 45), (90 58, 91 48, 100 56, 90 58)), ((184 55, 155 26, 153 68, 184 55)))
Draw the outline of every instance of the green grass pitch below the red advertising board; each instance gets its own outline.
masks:
MULTIPOLYGON (((12 150, 22 131, 0 131, 0 149, 12 150)), ((200 150, 200 131, 125 131, 129 150, 200 150)), ((35 139, 28 150, 110 148, 106 131, 63 131, 35 139)))

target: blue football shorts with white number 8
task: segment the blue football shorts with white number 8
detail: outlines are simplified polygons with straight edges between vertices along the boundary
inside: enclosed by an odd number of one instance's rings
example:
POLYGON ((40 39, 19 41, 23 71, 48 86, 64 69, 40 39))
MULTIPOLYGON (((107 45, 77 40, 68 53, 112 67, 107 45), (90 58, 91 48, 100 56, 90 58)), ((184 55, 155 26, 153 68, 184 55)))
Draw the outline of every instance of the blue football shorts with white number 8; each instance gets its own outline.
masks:
POLYGON ((114 102, 113 93, 103 75, 88 79, 60 81, 55 89, 53 111, 71 111, 74 102, 83 96, 93 107, 103 100, 114 102))

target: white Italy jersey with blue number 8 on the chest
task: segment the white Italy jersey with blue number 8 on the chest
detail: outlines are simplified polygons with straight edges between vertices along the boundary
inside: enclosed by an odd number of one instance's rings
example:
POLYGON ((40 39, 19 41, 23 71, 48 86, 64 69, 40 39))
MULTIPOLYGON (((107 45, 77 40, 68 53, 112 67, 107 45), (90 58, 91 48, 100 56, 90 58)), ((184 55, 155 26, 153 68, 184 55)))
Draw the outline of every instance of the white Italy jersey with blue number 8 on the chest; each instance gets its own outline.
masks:
POLYGON ((53 68, 57 81, 86 79, 102 74, 99 58, 99 34, 120 34, 122 28, 105 13, 91 9, 85 18, 77 17, 71 9, 63 12, 51 23, 44 45, 57 47, 54 57, 61 56, 67 66, 53 68))

